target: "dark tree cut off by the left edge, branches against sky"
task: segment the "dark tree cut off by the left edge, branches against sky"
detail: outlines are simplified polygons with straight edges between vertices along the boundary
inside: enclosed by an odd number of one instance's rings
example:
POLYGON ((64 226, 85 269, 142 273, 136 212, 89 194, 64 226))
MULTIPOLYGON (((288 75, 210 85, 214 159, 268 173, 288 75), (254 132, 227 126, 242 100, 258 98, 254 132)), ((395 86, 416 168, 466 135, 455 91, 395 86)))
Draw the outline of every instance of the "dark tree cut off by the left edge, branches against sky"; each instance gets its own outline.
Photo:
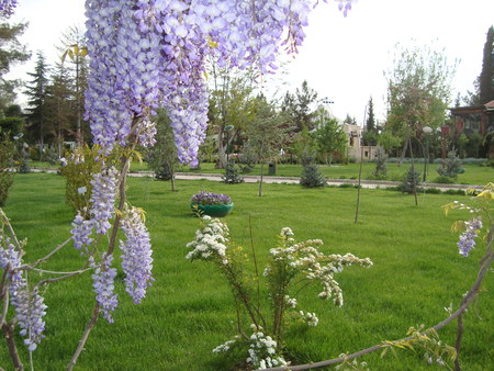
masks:
POLYGON ((19 80, 5 80, 3 76, 9 72, 13 64, 27 60, 31 54, 18 40, 27 24, 10 25, 1 18, 0 22, 0 115, 2 115, 5 108, 15 99, 14 89, 20 86, 19 80))

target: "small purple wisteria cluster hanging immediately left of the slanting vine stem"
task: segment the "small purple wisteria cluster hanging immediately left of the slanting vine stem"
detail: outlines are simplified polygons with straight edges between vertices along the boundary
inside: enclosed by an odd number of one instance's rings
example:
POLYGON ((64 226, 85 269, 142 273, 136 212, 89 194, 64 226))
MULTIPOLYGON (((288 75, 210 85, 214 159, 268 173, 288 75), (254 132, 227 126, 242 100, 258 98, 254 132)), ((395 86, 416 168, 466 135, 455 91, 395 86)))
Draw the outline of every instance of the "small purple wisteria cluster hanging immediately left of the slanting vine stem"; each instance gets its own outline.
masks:
POLYGON ((94 269, 94 273, 92 274, 92 286, 97 294, 96 300, 100 305, 100 312, 103 313, 103 318, 106 318, 110 324, 113 323, 112 312, 114 312, 119 305, 116 294, 114 293, 115 286, 113 284, 116 269, 111 268, 112 261, 112 255, 103 255, 100 263, 96 263, 93 257, 89 258, 90 266, 94 269))

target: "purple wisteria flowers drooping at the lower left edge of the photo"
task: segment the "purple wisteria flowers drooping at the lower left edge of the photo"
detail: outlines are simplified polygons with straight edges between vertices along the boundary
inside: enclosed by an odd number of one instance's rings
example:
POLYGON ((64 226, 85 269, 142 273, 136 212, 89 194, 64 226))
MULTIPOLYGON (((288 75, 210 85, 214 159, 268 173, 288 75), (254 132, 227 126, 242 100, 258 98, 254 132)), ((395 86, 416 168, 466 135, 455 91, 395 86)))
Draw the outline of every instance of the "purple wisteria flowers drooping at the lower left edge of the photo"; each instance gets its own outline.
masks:
POLYGON ((0 229, 0 268, 4 270, 4 279, 9 280, 10 302, 15 308, 15 319, 21 328, 20 334, 25 337, 24 344, 30 351, 34 351, 44 338, 47 306, 44 299, 40 296, 37 289, 29 290, 24 271, 19 270, 22 266, 20 252, 0 229))

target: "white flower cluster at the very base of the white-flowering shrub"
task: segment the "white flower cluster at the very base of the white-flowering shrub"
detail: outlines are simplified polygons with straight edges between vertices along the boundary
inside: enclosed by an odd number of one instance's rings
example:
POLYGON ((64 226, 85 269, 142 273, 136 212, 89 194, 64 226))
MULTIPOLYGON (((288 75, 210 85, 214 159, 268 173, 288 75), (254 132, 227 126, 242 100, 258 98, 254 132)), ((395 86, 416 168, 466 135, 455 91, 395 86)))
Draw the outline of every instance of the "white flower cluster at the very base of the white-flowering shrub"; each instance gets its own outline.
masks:
POLYGON ((247 362, 251 363, 256 369, 288 366, 289 363, 283 357, 277 355, 277 341, 259 331, 256 326, 254 328, 255 333, 250 336, 251 342, 247 362))

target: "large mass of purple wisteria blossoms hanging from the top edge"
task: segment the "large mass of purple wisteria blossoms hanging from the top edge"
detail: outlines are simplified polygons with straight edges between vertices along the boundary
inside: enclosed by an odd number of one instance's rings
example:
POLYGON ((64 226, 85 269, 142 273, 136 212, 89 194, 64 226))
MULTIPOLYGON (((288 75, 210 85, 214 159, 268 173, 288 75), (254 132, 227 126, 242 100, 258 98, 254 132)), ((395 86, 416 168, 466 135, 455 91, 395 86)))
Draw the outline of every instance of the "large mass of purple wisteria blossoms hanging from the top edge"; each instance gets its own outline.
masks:
MULTIPOLYGON (((87 1, 91 72, 86 116, 94 142, 110 151, 132 136, 143 144, 145 120, 165 106, 179 158, 197 164, 204 139, 206 57, 220 66, 276 69, 282 45, 296 52, 315 0, 94 0, 87 1)), ((351 1, 339 4, 344 12, 351 1), (345 5, 344 5, 345 3, 345 5)))

